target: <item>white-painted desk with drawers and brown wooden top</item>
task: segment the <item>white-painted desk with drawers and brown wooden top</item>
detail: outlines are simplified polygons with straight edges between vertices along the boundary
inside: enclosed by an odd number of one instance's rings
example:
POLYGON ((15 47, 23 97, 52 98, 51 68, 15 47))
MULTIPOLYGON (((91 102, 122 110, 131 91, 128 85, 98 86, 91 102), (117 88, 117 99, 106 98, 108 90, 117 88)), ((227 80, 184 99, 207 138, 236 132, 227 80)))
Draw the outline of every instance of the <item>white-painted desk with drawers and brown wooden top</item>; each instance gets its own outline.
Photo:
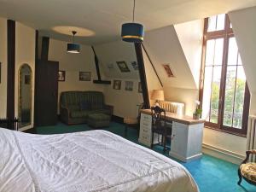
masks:
MULTIPOLYGON (((200 158, 205 120, 170 112, 166 112, 166 120, 172 121, 172 146, 169 155, 183 162, 200 158)), ((152 138, 151 126, 151 110, 142 109, 138 141, 148 147, 152 138)), ((154 134, 154 143, 157 143, 157 137, 154 134)))

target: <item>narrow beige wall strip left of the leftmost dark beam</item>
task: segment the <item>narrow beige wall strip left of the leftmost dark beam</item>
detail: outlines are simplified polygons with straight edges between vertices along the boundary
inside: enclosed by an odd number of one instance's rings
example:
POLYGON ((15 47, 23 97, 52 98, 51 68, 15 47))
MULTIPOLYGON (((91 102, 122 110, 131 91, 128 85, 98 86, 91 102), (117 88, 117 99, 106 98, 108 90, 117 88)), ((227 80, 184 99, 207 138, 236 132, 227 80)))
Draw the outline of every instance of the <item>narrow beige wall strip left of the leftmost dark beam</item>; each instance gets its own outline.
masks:
POLYGON ((0 118, 6 117, 7 103, 7 20, 0 18, 0 118))

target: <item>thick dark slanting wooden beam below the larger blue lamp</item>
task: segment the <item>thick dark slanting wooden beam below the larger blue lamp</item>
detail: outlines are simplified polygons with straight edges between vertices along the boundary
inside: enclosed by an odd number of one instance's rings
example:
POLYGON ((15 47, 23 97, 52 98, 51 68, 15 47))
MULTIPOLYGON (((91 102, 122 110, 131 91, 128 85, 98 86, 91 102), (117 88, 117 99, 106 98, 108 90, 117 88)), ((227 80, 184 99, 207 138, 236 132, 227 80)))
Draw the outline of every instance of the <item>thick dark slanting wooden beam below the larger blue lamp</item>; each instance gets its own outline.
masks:
POLYGON ((146 72, 145 72, 145 66, 144 66, 144 60, 143 60, 142 44, 134 44, 134 46, 135 46, 135 52, 137 55, 137 65, 139 69, 139 75, 140 75, 142 90, 143 90, 144 108, 150 108, 149 96, 148 96, 148 84, 147 84, 147 78, 146 78, 146 72))

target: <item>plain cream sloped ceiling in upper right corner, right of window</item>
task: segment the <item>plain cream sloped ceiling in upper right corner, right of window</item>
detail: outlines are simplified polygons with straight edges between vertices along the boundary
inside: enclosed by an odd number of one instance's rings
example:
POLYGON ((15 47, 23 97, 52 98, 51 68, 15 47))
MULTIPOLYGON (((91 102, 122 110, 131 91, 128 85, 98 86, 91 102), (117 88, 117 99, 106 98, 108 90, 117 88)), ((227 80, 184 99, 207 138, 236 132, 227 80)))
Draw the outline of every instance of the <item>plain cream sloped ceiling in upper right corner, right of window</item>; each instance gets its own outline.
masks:
POLYGON ((256 7, 230 12, 249 90, 256 93, 256 7))

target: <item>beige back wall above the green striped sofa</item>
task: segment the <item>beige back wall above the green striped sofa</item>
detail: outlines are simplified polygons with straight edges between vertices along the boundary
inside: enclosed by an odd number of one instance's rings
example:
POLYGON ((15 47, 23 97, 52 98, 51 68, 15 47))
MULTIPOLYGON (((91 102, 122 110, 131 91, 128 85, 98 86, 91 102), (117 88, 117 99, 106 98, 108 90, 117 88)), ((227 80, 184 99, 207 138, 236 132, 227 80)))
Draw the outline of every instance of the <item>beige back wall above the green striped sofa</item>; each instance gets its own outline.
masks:
MULTIPOLYGON (((59 61, 59 70, 66 71, 66 80, 59 82, 59 96, 67 90, 99 90, 102 84, 93 84, 97 79, 94 55, 90 46, 81 45, 79 54, 67 53, 67 42, 50 38, 49 61, 59 61), (91 81, 79 81, 79 72, 91 72, 91 81)), ((58 108, 59 109, 59 108, 58 108)))

